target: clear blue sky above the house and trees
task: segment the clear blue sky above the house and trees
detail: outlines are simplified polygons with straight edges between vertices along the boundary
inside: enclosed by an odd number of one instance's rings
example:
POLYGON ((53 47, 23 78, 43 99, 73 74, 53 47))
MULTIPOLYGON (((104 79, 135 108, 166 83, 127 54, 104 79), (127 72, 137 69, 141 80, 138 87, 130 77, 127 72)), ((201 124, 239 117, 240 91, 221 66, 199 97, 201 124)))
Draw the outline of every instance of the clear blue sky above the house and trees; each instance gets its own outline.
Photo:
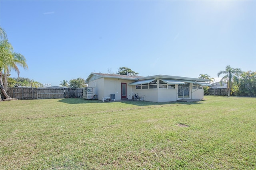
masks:
POLYGON ((122 66, 139 76, 256 71, 256 1, 1 0, 0 25, 26 57, 20 76, 52 86, 122 66))

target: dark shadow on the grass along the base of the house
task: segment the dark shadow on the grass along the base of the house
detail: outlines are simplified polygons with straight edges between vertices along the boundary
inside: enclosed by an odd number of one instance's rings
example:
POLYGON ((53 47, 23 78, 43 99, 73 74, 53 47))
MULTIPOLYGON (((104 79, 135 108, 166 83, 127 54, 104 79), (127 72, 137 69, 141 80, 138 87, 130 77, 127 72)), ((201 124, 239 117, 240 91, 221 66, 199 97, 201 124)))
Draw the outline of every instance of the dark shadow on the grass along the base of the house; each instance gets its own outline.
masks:
POLYGON ((184 105, 192 105, 192 104, 202 104, 201 101, 198 102, 147 102, 147 101, 137 101, 137 100, 127 100, 127 101, 110 101, 110 102, 101 102, 100 100, 85 100, 84 98, 65 98, 58 100, 58 102, 63 102, 66 104, 91 104, 91 103, 98 103, 98 104, 114 104, 116 102, 123 103, 123 104, 131 104, 136 106, 158 106, 158 105, 165 105, 165 104, 184 104, 184 105))

